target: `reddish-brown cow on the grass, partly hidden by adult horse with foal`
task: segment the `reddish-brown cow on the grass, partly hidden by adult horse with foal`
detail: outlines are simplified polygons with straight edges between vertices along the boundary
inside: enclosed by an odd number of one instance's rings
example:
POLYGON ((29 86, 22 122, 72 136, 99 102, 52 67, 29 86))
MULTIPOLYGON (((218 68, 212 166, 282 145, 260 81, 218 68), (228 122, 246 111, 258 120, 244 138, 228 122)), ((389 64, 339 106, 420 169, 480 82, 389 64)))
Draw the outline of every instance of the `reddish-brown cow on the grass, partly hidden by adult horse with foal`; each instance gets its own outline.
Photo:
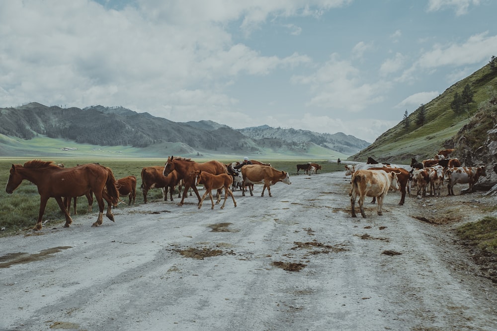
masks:
POLYGON ((174 187, 178 184, 177 173, 171 172, 167 177, 163 175, 163 166, 144 167, 142 169, 142 185, 140 190, 143 193, 143 203, 147 203, 147 193, 150 189, 162 189, 164 201, 167 201, 167 189, 171 201, 174 187))

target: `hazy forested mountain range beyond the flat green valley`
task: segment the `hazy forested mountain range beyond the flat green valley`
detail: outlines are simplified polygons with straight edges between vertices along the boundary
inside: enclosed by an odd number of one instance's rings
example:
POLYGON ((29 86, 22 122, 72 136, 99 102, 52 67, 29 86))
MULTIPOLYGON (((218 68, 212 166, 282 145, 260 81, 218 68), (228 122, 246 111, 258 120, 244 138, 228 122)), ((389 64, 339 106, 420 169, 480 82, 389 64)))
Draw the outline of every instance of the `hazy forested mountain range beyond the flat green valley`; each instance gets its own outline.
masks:
MULTIPOLYGON (((0 134, 27 141, 43 135, 82 144, 146 148, 149 153, 154 148, 166 148, 165 143, 179 143, 188 146, 182 150, 189 153, 306 155, 312 150, 319 151, 320 155, 336 154, 338 157, 351 155, 367 145, 365 141, 344 134, 331 138, 335 135, 295 130, 293 136, 297 132, 300 136, 297 141, 287 140, 293 129, 267 127, 267 130, 269 133, 252 138, 243 131, 212 121, 176 123, 149 113, 100 105, 79 109, 48 107, 33 102, 15 108, 0 108, 0 134), (272 137, 263 137, 269 135, 272 137)), ((251 130, 247 129, 247 132, 251 130)), ((9 150, 0 146, 0 156, 8 156, 9 150)))

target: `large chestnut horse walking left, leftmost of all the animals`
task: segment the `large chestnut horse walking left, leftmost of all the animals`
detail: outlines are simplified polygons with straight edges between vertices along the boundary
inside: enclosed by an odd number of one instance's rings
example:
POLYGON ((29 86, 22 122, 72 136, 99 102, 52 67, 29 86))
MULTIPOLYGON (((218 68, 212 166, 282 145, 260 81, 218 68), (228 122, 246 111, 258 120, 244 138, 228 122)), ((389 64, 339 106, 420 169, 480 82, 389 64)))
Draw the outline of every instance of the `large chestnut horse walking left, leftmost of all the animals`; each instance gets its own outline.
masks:
POLYGON ((35 184, 40 194, 40 212, 33 230, 41 230, 41 219, 45 213, 49 198, 57 200, 66 217, 64 227, 69 227, 73 220, 62 201, 62 197, 81 197, 89 190, 93 191, 99 208, 97 221, 92 226, 102 224, 103 208, 105 206, 103 199, 108 203, 106 216, 114 221, 111 204, 117 203, 119 192, 116 188, 114 174, 110 168, 90 163, 63 169, 53 161, 42 160, 28 161, 24 165, 12 164, 5 191, 11 194, 24 179, 35 184))

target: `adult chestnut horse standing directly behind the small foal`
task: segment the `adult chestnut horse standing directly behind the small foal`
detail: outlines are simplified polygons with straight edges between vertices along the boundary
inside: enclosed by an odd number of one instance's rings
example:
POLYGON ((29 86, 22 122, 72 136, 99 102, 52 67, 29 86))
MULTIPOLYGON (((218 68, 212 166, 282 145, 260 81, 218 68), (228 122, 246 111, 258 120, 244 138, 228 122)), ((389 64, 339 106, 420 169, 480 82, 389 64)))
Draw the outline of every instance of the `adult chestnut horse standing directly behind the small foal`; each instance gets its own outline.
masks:
MULTIPOLYGON (((186 198, 188 189, 190 187, 193 189, 193 192, 195 192, 195 195, 198 198, 198 203, 200 203, 200 195, 198 194, 197 187, 195 186, 195 177, 192 176, 192 173, 195 170, 202 170, 211 173, 213 175, 228 173, 226 166, 223 163, 216 160, 204 163, 197 163, 195 161, 192 161, 191 159, 170 156, 167 158, 166 165, 164 166, 164 172, 163 172, 164 176, 169 175, 169 173, 173 170, 176 170, 176 172, 178 173, 178 179, 182 179, 184 182, 183 197, 181 198, 181 201, 178 203, 178 206, 183 205, 184 199, 186 198)), ((219 203, 221 201, 220 191, 221 190, 218 190, 216 203, 219 203)))

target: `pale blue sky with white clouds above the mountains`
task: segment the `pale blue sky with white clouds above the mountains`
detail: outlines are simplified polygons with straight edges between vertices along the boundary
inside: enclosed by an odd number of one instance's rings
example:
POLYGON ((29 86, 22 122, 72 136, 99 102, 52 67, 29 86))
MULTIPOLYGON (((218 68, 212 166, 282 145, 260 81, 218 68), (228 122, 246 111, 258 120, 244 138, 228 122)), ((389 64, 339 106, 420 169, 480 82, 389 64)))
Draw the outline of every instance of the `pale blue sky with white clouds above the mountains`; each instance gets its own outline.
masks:
POLYGON ((373 142, 497 56, 495 0, 0 1, 0 107, 373 142))

